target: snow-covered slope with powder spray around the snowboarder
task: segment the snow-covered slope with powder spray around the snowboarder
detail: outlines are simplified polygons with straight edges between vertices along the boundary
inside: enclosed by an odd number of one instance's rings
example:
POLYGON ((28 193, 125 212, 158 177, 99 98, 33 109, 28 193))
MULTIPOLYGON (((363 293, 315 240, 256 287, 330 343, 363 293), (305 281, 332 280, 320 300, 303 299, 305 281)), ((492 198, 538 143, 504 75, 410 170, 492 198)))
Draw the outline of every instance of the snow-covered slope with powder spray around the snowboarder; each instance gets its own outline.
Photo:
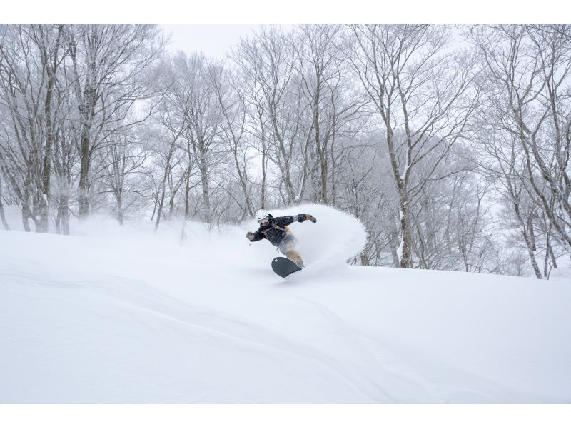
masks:
POLYGON ((360 223, 0 231, 0 403, 571 403, 568 280, 345 266, 360 223))

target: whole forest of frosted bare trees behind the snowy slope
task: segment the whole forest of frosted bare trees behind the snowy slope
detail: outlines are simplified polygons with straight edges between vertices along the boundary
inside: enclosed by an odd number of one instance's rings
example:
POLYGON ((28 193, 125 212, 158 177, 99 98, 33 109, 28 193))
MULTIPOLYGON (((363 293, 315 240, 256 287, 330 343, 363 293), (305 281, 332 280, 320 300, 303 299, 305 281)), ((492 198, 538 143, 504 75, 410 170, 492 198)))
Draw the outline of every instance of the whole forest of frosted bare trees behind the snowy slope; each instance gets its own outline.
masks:
POLYGON ((365 224, 358 265, 549 278, 571 261, 571 25, 167 46, 151 24, 0 25, 2 227, 6 206, 69 234, 94 213, 215 227, 312 202, 365 224))

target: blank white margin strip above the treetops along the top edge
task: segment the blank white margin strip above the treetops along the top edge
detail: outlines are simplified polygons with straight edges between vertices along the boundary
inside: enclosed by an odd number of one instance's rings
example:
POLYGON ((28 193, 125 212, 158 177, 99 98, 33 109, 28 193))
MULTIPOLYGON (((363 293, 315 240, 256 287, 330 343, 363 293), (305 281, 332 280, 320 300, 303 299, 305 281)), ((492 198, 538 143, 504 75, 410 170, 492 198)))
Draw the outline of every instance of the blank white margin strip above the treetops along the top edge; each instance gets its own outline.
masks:
POLYGON ((569 22, 566 0, 4 1, 0 21, 148 23, 569 22))

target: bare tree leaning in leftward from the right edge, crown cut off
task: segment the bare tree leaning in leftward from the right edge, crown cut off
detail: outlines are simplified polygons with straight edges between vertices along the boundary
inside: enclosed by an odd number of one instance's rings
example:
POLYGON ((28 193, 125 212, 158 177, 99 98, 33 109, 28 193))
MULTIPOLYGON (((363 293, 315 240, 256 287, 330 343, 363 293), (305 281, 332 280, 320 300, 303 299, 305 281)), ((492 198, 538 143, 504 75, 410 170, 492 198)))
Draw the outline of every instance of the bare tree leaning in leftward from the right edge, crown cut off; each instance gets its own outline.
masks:
MULTIPOLYGON (((470 31, 487 68, 483 83, 489 88, 487 119, 519 144, 517 152, 525 166, 525 174, 520 174, 523 189, 537 201, 550 221, 552 236, 567 253, 571 253, 570 29, 567 24, 492 25, 470 31)), ((539 271, 535 264, 534 270, 539 271)))

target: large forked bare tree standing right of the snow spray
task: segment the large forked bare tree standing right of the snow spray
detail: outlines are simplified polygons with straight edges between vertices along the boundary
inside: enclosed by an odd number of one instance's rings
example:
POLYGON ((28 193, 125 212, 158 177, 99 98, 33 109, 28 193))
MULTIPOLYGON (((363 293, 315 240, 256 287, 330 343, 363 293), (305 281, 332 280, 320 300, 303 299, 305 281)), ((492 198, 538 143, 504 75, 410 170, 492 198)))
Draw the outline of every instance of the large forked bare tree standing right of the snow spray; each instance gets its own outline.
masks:
POLYGON ((348 29, 352 39, 344 49, 345 60, 385 128, 399 194, 400 266, 408 267, 412 253, 410 192, 422 189, 466 129, 476 98, 468 94, 472 64, 463 56, 443 53, 448 40, 443 26, 372 24, 348 29), (402 131, 402 141, 395 140, 397 130, 402 131), (428 165, 424 179, 410 189, 413 171, 435 152, 438 156, 428 165))

